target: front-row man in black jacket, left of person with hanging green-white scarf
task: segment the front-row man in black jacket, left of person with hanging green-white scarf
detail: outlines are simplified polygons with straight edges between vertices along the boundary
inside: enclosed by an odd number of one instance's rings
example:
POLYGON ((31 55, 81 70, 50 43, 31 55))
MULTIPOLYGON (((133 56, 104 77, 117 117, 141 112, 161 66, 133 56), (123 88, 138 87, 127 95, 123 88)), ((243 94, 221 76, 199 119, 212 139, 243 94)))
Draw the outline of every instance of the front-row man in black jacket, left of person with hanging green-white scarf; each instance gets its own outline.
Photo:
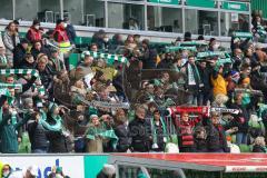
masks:
POLYGON ((150 150, 151 126, 146 119, 146 109, 139 106, 136 109, 136 118, 129 123, 131 137, 131 150, 135 152, 148 152, 150 150))

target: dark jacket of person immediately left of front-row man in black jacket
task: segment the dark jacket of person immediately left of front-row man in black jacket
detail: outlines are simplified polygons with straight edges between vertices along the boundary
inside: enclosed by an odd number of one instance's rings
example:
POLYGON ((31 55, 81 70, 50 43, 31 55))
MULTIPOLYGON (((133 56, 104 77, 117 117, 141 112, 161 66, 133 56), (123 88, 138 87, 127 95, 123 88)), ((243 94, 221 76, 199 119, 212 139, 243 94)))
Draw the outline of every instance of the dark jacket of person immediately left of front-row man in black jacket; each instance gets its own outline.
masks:
POLYGON ((126 152, 130 147, 131 140, 129 137, 129 128, 126 125, 119 125, 115 128, 115 134, 118 137, 117 151, 126 152))

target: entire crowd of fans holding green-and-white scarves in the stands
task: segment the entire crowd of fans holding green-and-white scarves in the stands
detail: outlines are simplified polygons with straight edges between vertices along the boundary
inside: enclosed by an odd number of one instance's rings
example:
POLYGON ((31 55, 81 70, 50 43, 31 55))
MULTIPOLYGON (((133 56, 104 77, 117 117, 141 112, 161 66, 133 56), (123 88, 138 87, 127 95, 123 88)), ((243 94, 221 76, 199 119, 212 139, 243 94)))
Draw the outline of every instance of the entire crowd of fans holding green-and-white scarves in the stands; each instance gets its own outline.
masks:
POLYGON ((11 21, 0 39, 0 152, 267 152, 258 18, 229 49, 189 32, 162 49, 100 30, 81 50, 68 20, 49 31, 34 20, 22 39, 11 21))

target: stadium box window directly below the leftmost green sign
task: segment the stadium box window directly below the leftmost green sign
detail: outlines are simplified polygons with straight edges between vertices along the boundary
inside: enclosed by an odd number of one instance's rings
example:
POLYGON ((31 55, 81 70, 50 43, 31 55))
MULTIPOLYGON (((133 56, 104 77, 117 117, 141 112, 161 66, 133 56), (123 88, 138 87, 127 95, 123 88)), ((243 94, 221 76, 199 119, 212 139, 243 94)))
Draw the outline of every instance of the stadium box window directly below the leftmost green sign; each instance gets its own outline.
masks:
POLYGON ((181 9, 148 7, 148 30, 182 32, 181 9))

